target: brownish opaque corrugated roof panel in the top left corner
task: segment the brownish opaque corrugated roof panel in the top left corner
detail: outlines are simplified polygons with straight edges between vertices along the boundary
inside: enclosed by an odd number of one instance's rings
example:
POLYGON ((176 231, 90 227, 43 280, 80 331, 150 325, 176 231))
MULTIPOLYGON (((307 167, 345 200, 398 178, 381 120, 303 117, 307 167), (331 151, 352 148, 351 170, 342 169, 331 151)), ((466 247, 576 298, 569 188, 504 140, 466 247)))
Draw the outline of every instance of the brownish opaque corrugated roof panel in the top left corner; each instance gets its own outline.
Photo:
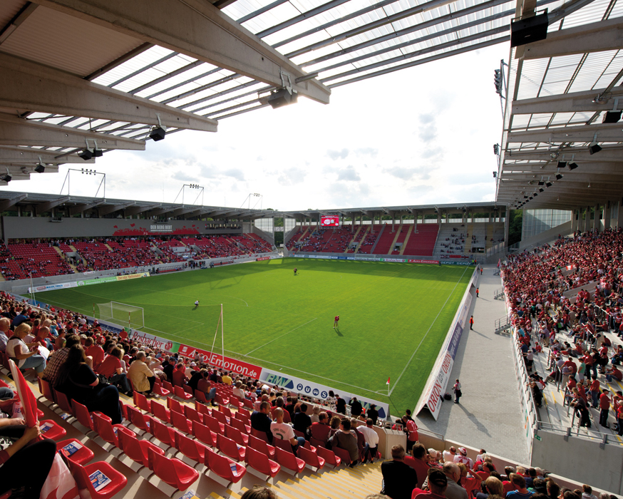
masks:
POLYGON ((143 41, 43 6, 2 43, 2 51, 88 76, 143 41))

